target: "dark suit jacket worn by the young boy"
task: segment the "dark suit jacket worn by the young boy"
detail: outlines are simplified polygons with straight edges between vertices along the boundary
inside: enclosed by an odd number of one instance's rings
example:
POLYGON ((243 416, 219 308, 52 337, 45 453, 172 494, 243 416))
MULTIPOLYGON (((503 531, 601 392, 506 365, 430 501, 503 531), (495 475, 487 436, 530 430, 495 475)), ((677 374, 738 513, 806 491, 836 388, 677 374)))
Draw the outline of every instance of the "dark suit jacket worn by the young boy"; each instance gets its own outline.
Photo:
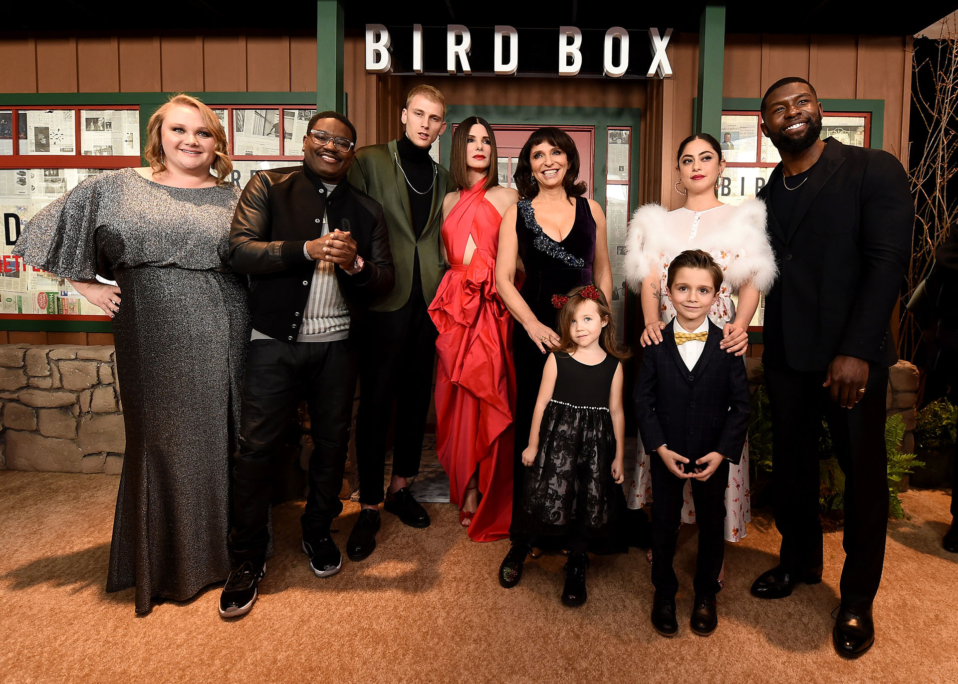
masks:
POLYGON ((690 461, 718 451, 737 464, 751 413, 745 363, 719 349, 721 329, 709 322, 705 348, 690 371, 675 345, 674 325, 673 318, 662 342, 642 355, 633 393, 642 445, 649 454, 668 445, 690 461))

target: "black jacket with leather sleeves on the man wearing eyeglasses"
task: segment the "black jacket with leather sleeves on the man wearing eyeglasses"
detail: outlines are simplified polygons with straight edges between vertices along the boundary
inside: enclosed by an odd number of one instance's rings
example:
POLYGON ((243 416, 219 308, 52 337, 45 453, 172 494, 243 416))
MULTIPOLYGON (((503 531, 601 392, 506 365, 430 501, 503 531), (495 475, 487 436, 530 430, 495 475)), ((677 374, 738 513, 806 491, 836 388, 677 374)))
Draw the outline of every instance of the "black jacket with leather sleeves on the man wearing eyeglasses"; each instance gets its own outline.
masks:
POLYGON ((303 246, 320 237, 323 213, 330 229, 349 231, 363 269, 336 268, 336 282, 350 308, 350 336, 373 297, 396 282, 382 207, 344 178, 327 196, 322 181, 305 166, 257 171, 239 197, 230 227, 230 265, 250 275, 253 328, 279 340, 299 334, 315 262, 303 246))

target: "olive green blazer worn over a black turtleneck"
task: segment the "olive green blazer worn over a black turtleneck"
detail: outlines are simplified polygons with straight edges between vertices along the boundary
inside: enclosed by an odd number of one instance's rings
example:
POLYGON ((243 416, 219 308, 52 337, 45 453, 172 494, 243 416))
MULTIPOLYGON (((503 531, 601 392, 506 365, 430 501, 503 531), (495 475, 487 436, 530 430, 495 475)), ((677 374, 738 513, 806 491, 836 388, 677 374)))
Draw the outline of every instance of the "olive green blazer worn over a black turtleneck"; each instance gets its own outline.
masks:
POLYGON ((446 193, 454 190, 449 171, 442 166, 437 169, 429 220, 417 240, 413 232, 412 210, 409 208, 409 191, 406 179, 402 171, 399 171, 397 158, 395 140, 385 145, 370 145, 357 149, 348 176, 354 187, 382 205, 386 227, 389 229, 389 248, 392 250, 396 267, 396 285, 391 292, 373 301, 370 306, 372 311, 395 311, 409 300, 413 283, 413 260, 417 248, 422 275, 422 295, 427 305, 436 296, 436 289, 445 272, 445 260, 440 244, 443 239, 443 199, 446 193))

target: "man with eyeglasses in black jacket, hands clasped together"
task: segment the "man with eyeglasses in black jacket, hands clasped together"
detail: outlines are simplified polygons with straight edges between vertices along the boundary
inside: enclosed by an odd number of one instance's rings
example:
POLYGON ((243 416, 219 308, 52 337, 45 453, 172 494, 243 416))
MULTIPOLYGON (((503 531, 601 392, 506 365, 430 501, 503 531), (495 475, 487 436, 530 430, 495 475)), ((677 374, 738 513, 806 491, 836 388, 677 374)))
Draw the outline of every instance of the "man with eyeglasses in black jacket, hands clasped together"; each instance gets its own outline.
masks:
POLYGON ((342 567, 330 526, 343 510, 355 332, 374 298, 395 283, 382 207, 345 179, 355 135, 342 114, 316 114, 303 137, 303 165, 257 171, 233 217, 230 265, 250 275, 253 332, 233 456, 235 565, 219 598, 224 618, 247 613, 256 601, 269 542, 271 461, 301 399, 313 441, 303 551, 317 577, 342 567))

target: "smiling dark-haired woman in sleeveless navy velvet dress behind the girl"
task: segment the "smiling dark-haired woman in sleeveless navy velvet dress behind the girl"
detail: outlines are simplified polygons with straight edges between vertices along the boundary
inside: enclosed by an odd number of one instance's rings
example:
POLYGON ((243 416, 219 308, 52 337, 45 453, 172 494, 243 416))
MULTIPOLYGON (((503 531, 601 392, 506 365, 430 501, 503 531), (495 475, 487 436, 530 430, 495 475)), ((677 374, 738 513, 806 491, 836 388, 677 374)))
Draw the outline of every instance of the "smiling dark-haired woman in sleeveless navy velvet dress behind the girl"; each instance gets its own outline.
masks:
POLYGON ((514 435, 522 443, 516 444, 513 456, 512 545, 499 568, 499 583, 506 588, 522 577, 531 550, 530 536, 516 512, 525 471, 521 454, 529 437, 542 368, 549 350, 559 344, 552 297, 594 284, 606 301, 612 299, 605 216, 595 200, 582 196, 586 186, 577 182, 578 176, 579 152, 572 138, 559 128, 538 128, 519 152, 513 176, 522 199, 506 211, 499 229, 495 285, 519 324, 513 328, 514 435), (518 260, 525 279, 516 289, 518 260))

